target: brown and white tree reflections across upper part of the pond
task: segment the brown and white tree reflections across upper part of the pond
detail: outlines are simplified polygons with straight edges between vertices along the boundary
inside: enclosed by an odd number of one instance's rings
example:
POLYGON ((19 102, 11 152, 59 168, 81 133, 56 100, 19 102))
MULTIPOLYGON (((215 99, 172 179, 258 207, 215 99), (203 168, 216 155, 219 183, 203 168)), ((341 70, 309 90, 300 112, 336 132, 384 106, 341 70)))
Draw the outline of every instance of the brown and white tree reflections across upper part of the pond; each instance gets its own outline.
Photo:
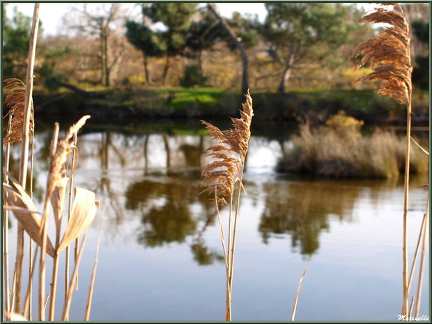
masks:
MULTIPOLYGON (((355 203, 365 188, 371 192, 371 203, 378 206, 382 190, 401 185, 400 179, 344 184, 277 178, 273 168, 290 142, 288 134, 269 134, 252 134, 245 173, 249 203, 261 215, 258 231, 265 244, 283 237, 291 240, 294 251, 314 254, 321 233, 330 230, 331 217, 353 220, 355 203)), ((43 197, 50 138, 49 132, 36 133, 39 176, 33 183, 38 201, 43 197)), ((215 226, 215 206, 208 196, 199 195, 201 166, 208 162, 203 151, 210 145, 209 137, 193 132, 82 134, 79 168, 94 172, 81 181, 106 198, 107 215, 113 221, 109 231, 119 231, 126 221, 139 219, 134 233, 139 244, 152 248, 187 244, 197 263, 212 264, 222 260, 219 249, 208 247, 205 240, 208 228, 215 226)), ((18 156, 11 157, 12 173, 17 173, 18 156)), ((77 185, 82 185, 79 181, 77 185)))

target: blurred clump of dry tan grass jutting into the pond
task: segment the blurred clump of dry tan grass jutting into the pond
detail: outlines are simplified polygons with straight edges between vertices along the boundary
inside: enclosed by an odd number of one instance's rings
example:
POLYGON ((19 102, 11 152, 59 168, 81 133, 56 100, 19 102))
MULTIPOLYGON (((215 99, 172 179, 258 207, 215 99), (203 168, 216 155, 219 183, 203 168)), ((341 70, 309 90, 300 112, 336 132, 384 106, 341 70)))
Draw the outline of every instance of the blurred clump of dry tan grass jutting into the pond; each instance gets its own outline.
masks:
MULTIPOLYGON (((403 136, 379 128, 362 135, 353 124, 314 128, 306 121, 278 170, 326 178, 394 178, 405 172, 405 142, 403 136)), ((412 148, 410 173, 428 170, 428 157, 417 146, 412 148)))

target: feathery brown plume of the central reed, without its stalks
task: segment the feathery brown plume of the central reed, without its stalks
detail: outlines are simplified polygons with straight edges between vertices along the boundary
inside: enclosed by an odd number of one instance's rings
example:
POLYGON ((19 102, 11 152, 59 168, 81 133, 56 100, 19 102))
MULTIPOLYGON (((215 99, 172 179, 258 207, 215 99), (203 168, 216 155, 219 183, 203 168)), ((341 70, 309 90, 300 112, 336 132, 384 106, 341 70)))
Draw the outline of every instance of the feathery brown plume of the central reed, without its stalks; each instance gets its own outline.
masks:
MULTIPOLYGON (((207 164, 201 174, 202 186, 206 186, 203 192, 213 194, 215 190, 222 194, 217 196, 217 201, 226 205, 225 197, 233 195, 236 179, 240 178, 240 173, 245 164, 245 158, 250 138, 250 126, 254 111, 252 109, 252 98, 249 91, 245 95, 246 101, 242 103, 240 118, 232 118, 233 128, 230 130, 219 130, 216 126, 201 121, 212 139, 218 141, 217 144, 210 146, 206 151, 207 156, 213 157, 216 161, 207 164)), ((202 193, 202 192, 201 192, 202 193)))

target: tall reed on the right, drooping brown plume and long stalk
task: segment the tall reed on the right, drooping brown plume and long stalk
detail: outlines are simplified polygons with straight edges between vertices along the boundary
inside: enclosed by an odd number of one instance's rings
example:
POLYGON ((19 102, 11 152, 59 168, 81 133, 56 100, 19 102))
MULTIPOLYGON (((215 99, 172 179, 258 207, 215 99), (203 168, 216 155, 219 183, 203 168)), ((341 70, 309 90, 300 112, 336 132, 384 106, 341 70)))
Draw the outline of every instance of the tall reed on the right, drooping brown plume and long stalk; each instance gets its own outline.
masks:
POLYGON ((403 9, 398 3, 380 3, 368 11, 359 22, 388 24, 378 36, 362 43, 350 59, 364 55, 356 70, 370 62, 372 72, 357 79, 360 81, 380 80, 377 93, 388 95, 407 107, 406 127, 406 164, 403 200, 403 311, 408 315, 408 187, 410 173, 410 141, 411 141, 411 96, 412 96, 412 64, 411 40, 409 25, 403 16, 403 9))

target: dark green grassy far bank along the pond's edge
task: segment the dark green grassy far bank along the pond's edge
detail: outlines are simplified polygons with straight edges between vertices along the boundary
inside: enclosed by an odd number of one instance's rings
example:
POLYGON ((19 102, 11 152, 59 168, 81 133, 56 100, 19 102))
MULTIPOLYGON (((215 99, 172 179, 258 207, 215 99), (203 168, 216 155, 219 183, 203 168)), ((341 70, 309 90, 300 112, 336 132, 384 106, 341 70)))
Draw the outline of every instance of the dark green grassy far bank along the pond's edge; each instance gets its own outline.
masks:
MULTIPOLYGON (((243 100, 237 90, 222 88, 86 88, 88 95, 60 92, 34 96, 39 114, 92 114, 102 121, 146 118, 224 118, 236 116, 243 100)), ((368 90, 293 89, 286 94, 252 90, 255 118, 295 121, 298 116, 323 123, 344 109, 367 124, 403 125, 406 114, 396 102, 368 90)), ((415 125, 429 124, 429 93, 414 96, 415 125)))

